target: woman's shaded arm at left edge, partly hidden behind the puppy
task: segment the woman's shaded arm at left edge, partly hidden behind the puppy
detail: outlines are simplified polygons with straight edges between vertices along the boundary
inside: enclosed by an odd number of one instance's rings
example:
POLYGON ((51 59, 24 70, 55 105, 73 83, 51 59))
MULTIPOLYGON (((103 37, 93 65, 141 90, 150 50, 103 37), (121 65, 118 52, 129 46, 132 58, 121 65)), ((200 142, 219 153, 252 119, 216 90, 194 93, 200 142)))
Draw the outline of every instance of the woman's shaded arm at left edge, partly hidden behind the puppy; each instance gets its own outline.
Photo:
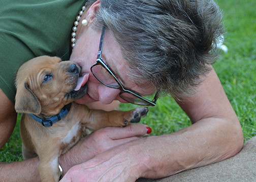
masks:
MULTIPOLYGON (((0 89, 0 101, 0 148, 2 148, 13 132, 17 113, 2 89, 0 89)), ((12 163, 0 162, 0 179, 1 181, 40 181, 38 162, 38 158, 12 163)))

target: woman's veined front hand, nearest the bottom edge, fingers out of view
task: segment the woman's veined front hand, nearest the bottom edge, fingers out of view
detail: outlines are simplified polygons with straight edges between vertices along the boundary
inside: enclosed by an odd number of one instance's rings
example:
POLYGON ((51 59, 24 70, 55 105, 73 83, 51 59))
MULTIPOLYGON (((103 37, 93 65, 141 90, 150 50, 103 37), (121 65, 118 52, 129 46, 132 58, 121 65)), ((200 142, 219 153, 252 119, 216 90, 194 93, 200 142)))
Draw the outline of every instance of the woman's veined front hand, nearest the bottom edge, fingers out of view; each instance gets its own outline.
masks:
MULTIPOLYGON (((107 150, 93 159, 72 167, 61 182, 71 181, 130 181, 141 176, 145 167, 141 158, 141 139, 107 150)), ((141 143, 142 144, 142 143, 141 143)))

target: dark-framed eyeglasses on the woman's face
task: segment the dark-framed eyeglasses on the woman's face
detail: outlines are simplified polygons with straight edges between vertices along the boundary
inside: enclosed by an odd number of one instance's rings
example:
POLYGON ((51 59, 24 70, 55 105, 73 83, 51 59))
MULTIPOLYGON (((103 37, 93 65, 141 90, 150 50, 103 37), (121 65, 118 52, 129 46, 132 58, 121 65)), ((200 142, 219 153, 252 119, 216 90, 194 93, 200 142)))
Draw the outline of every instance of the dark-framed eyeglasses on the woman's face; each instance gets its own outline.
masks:
POLYGON ((125 88, 115 76, 116 74, 108 67, 106 63, 102 61, 102 50, 105 30, 106 27, 103 26, 97 60, 96 63, 93 64, 90 68, 93 76, 97 78, 102 84, 111 88, 117 88, 121 90, 119 96, 126 102, 141 106, 155 106, 156 100, 158 98, 158 91, 156 92, 154 99, 152 101, 141 97, 134 91, 125 88))

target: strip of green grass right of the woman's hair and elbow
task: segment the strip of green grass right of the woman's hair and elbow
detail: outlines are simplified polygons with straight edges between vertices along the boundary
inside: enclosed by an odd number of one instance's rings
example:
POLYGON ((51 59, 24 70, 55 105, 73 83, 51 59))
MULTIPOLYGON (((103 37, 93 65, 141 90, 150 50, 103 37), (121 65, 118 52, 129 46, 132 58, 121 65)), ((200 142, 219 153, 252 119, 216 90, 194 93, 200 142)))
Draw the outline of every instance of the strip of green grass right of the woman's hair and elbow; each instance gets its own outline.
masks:
POLYGON ((242 125, 244 140, 256 135, 256 2, 218 0, 223 9, 229 52, 216 62, 228 98, 242 125))

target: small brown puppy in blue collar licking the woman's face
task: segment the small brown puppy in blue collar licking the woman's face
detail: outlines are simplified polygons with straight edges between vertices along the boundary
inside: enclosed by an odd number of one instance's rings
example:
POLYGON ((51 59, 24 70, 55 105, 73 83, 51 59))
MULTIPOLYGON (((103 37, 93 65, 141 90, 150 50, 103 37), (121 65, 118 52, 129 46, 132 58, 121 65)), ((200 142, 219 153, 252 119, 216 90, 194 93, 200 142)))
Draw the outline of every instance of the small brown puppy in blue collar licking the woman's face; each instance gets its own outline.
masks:
POLYGON ((105 112, 76 104, 73 101, 87 92, 87 86, 78 83, 79 72, 73 62, 48 56, 27 61, 17 72, 15 110, 24 113, 22 154, 24 159, 39 156, 39 173, 45 182, 59 180, 59 156, 87 134, 86 128, 125 126, 139 122, 148 112, 146 107, 105 112))

